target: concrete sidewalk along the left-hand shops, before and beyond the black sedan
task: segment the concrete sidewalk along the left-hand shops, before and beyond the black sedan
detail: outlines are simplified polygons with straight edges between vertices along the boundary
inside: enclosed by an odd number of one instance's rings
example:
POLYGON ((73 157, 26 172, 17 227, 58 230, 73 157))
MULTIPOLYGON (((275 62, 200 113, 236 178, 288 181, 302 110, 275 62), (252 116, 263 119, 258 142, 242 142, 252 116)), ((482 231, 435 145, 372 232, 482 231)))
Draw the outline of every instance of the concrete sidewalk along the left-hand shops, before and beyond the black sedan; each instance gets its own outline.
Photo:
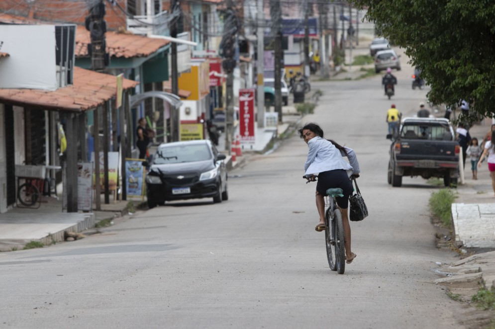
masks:
MULTIPOLYGON (((264 153, 272 144, 294 127, 300 120, 294 106, 283 107, 283 123, 272 128, 258 128, 256 143, 252 147, 245 147, 243 156, 234 160, 231 155, 225 160, 229 169, 244 162, 250 154, 264 153)), ((223 137, 223 136, 221 136, 223 137)), ((225 139, 220 138, 218 150, 225 151, 225 139)), ((61 192, 61 191, 60 191, 61 192)), ((128 213, 129 201, 113 200, 110 195, 109 204, 104 203, 101 195, 101 211, 91 213, 67 213, 62 210, 62 193, 59 197, 41 199, 38 209, 14 207, 4 214, 0 214, 0 251, 22 249, 31 241, 38 241, 44 245, 64 241, 68 232, 78 233, 95 227, 95 224, 104 219, 121 217, 128 213)), ((134 201, 136 207, 142 201, 134 201)))

